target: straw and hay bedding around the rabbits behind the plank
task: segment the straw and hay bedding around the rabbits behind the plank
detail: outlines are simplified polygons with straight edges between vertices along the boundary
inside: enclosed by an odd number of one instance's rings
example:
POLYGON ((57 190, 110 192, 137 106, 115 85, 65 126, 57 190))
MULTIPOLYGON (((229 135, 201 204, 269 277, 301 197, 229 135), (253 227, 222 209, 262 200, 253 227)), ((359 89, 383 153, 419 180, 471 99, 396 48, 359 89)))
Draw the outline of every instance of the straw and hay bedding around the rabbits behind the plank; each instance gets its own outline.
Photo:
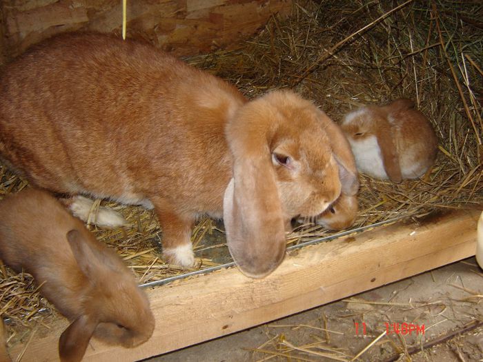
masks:
MULTIPOLYGON (((434 210, 481 209, 483 203, 483 23, 478 15, 483 5, 407 1, 396 7, 395 1, 300 0, 288 19, 273 17, 238 50, 187 59, 234 83, 249 98, 295 88, 335 121, 368 103, 397 97, 415 100, 437 132, 437 163, 423 180, 400 184, 360 175, 360 212, 354 228, 402 216, 418 219, 434 210)), ((0 168, 0 182, 1 196, 26 186, 5 166, 0 168)), ((117 250, 139 283, 190 271, 160 259, 162 232, 151 210, 102 204, 119 210, 130 224, 117 230, 90 228, 117 250)), ((328 234, 302 225, 288 236, 288 243, 328 234)), ((230 261, 219 221, 201 220, 193 243, 198 259, 192 271, 230 261)), ((42 323, 52 308, 32 279, 1 270, 3 316, 15 330, 42 323)))

